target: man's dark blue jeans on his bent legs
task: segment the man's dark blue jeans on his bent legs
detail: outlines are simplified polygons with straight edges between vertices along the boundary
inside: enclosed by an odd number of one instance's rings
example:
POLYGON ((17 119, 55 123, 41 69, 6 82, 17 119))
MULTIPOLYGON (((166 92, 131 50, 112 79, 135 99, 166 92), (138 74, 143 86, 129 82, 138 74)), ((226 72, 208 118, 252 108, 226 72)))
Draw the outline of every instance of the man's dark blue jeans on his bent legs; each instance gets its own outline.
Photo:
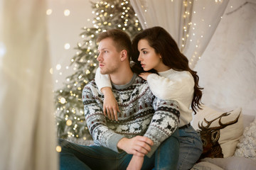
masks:
MULTIPOLYGON (((132 154, 126 152, 117 153, 112 149, 99 146, 83 146, 77 145, 66 140, 59 140, 59 144, 62 147, 60 152, 60 169, 127 169, 127 166, 132 159, 132 154)), ((142 169, 164 169, 163 166, 168 166, 168 169, 176 169, 178 159, 178 130, 174 132, 171 137, 166 139, 156 149, 156 152, 149 158, 144 157, 144 163, 142 169), (167 152, 164 152, 163 147, 173 146, 167 152), (174 159, 174 155, 176 159, 174 159), (171 156, 171 157, 170 157, 171 156)), ((170 148, 170 147, 169 147, 170 148)))

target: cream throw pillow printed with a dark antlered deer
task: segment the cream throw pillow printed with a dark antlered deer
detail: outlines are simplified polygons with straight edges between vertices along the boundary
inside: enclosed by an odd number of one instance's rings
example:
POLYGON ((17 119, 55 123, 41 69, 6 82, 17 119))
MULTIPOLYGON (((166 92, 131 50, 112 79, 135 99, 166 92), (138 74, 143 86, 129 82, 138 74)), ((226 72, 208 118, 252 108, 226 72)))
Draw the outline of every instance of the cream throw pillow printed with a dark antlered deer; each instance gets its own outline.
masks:
POLYGON ((204 157, 231 157, 243 132, 242 108, 215 110, 208 106, 196 113, 192 126, 203 142, 204 157))

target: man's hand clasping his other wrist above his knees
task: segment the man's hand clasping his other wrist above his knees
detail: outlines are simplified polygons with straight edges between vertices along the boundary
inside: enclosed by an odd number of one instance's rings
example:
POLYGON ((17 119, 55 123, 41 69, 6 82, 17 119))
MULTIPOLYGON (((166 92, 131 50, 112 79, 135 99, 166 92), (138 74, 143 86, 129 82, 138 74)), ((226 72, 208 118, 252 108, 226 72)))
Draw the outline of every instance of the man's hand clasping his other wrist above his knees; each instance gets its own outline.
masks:
POLYGON ((145 154, 148 154, 151 151, 152 145, 154 145, 154 142, 148 137, 143 136, 136 136, 131 139, 124 137, 117 143, 119 149, 137 157, 144 157, 145 154))

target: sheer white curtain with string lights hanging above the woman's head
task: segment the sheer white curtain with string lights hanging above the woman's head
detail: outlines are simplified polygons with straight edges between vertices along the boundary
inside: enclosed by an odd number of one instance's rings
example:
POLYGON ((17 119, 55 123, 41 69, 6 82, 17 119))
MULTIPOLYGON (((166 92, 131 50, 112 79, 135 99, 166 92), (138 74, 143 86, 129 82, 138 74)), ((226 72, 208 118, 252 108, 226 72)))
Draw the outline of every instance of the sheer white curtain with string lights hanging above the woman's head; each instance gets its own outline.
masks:
POLYGON ((193 69, 220 22, 228 0, 130 0, 142 28, 161 26, 193 69))

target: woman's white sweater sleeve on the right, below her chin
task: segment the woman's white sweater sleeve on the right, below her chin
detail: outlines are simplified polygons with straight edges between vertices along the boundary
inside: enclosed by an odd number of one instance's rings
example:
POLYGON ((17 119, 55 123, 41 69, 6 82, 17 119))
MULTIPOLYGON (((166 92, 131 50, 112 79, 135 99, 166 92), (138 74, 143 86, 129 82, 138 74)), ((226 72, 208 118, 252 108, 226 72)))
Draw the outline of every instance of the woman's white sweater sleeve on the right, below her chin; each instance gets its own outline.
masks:
POLYGON ((168 78, 149 74, 147 81, 154 96, 164 100, 187 98, 188 95, 193 94, 194 81, 188 73, 177 74, 168 78))

